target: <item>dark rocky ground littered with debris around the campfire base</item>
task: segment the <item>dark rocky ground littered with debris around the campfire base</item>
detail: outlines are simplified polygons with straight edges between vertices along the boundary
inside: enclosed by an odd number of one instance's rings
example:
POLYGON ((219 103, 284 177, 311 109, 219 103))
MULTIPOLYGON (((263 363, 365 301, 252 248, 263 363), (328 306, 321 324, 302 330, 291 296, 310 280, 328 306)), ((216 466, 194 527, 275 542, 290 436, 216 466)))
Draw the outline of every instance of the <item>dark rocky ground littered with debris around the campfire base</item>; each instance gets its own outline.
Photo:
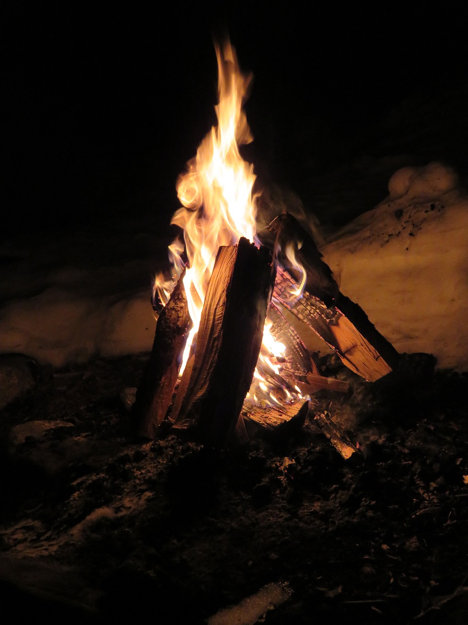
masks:
POLYGON ((305 422, 216 450, 134 436, 128 389, 146 357, 60 370, 2 357, 4 607, 198 623, 263 589, 256 612, 210 622, 464 622, 466 376, 412 354, 370 384, 326 356, 347 394, 321 391, 305 422), (359 447, 348 461, 314 421, 324 411, 359 447))

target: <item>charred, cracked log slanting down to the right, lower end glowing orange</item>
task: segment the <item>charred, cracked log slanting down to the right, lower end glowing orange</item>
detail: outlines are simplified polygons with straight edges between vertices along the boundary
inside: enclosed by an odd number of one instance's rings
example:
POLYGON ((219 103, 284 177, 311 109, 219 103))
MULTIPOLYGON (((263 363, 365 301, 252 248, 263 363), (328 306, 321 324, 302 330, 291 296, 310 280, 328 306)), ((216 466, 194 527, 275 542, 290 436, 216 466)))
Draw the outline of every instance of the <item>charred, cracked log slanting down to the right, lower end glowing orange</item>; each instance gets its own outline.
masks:
POLYGON ((310 326, 346 366, 369 381, 376 381, 396 366, 399 354, 369 321, 358 304, 338 288, 313 239, 296 219, 283 212, 258 233, 274 250, 281 267, 273 298, 310 326), (291 246, 294 244, 294 246, 291 246), (291 297, 300 273, 305 284, 300 296, 291 297))

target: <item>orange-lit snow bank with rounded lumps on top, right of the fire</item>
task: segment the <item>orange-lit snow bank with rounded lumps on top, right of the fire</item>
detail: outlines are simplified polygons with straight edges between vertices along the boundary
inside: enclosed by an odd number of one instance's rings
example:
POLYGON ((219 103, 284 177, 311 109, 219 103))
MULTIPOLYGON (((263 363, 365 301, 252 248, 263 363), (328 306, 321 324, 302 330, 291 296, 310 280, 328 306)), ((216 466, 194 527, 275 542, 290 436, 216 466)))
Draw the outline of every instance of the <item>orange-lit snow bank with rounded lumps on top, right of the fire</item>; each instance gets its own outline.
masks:
POLYGON ((400 169, 389 196, 321 252, 398 351, 468 371, 468 199, 458 185, 441 163, 400 169))

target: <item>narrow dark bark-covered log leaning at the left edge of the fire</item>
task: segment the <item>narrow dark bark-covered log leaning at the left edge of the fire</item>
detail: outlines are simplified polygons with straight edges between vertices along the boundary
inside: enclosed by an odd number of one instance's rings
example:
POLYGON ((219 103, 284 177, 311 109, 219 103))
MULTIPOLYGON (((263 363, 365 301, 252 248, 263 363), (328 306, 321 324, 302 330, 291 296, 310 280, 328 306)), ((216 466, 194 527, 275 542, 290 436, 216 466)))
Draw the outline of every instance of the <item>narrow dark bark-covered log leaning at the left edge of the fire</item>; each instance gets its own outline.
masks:
POLYGON ((133 414, 140 436, 153 439, 163 422, 177 383, 190 315, 180 276, 156 324, 154 342, 142 381, 137 389, 133 414))

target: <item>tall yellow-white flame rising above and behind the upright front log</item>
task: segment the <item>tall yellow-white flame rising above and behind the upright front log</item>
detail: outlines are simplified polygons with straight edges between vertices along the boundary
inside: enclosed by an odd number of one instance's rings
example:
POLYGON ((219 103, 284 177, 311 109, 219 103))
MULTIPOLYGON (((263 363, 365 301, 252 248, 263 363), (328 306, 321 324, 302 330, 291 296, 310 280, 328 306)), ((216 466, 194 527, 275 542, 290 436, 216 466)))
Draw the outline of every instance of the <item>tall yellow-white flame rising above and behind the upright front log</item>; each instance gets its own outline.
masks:
MULTIPOLYGON (((242 105, 248 95, 251 75, 241 73, 235 49, 227 42, 215 46, 218 59, 218 96, 215 107, 218 126, 211 129, 188 161, 187 171, 177 181, 182 207, 172 224, 183 229, 188 269, 183 279, 193 327, 187 341, 181 374, 195 336, 218 247, 233 245, 241 236, 253 241, 255 196, 253 166, 240 156, 239 146, 252 140, 242 105)), ((174 245, 174 244, 173 244, 174 245)), ((173 247, 175 270, 172 286, 183 271, 183 249, 173 247)), ((158 295, 165 304, 170 295, 167 281, 157 278, 158 295)))

